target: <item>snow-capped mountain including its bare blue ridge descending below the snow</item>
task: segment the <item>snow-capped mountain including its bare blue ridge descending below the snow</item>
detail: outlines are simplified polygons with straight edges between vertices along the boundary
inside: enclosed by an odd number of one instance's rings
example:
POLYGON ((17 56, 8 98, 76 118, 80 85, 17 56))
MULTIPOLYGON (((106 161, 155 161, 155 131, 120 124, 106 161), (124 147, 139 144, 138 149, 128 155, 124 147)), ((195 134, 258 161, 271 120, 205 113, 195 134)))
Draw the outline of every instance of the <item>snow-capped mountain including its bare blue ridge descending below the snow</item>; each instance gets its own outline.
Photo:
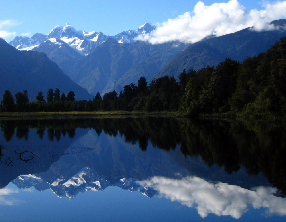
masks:
POLYGON ((17 36, 9 44, 19 50, 46 53, 51 61, 57 63, 59 68, 71 77, 74 64, 82 56, 93 52, 106 39, 112 38, 120 43, 131 43, 138 35, 153 30, 155 27, 146 23, 137 30, 127 30, 114 36, 107 36, 101 32, 77 31, 72 25, 65 24, 56 26, 47 35, 36 33, 31 38, 17 36))

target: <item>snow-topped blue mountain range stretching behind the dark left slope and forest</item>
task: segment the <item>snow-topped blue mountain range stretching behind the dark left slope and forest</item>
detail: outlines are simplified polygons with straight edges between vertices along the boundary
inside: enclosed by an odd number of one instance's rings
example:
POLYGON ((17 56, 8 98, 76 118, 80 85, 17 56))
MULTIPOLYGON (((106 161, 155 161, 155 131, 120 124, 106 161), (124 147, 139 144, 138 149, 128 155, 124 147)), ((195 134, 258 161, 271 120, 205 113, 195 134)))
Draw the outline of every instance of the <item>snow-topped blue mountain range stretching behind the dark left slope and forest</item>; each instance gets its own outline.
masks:
MULTIPOLYGON (((266 51, 286 35, 285 19, 271 24, 274 28, 270 31, 258 32, 249 27, 194 44, 174 41, 154 45, 136 41, 138 35, 155 30, 150 23, 114 36, 77 31, 65 24, 56 26, 47 35, 17 36, 9 44, 19 50, 46 53, 64 74, 94 96, 97 92, 103 95, 112 90, 119 93, 125 85, 136 84, 141 76, 149 82, 165 75, 178 80, 183 69, 216 66, 228 57, 242 62, 247 56, 266 51)), ((58 84, 57 88, 63 86, 58 84)))

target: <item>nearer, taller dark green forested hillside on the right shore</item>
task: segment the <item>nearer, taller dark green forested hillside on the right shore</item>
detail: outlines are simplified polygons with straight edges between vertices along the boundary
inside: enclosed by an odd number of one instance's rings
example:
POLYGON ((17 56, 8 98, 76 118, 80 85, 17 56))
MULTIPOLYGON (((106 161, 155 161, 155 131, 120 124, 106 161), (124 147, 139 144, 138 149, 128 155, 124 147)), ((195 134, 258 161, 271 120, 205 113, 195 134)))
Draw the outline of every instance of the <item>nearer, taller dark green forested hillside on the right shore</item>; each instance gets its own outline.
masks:
POLYGON ((285 116, 286 37, 241 64, 226 59, 217 67, 186 74, 180 109, 198 113, 242 112, 246 116, 285 116))

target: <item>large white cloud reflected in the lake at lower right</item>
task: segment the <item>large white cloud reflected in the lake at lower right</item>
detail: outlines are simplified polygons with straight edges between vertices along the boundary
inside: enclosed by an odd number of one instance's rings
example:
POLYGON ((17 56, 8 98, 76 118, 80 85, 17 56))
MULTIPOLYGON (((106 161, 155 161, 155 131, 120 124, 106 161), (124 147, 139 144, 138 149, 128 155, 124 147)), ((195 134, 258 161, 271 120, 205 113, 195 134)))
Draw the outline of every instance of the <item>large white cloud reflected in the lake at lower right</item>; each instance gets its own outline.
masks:
POLYGON ((286 215, 286 200, 274 196, 277 189, 272 187, 248 190, 226 183, 210 183, 196 176, 180 180, 153 177, 139 183, 157 190, 159 197, 196 207, 202 218, 209 213, 240 218, 250 206, 255 209, 265 207, 266 213, 286 215))

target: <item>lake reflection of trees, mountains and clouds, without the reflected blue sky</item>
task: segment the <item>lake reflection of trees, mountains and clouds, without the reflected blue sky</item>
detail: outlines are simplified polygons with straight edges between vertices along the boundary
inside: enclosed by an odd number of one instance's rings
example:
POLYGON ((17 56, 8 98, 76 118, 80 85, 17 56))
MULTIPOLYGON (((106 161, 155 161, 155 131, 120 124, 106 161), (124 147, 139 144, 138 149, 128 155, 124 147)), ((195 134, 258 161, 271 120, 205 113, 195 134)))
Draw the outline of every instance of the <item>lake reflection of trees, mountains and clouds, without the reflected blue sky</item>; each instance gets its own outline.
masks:
POLYGON ((195 207, 203 218, 240 218, 250 207, 286 212, 282 126, 151 117, 0 125, 3 204, 16 192, 5 187, 12 181, 67 199, 117 186, 195 207))

